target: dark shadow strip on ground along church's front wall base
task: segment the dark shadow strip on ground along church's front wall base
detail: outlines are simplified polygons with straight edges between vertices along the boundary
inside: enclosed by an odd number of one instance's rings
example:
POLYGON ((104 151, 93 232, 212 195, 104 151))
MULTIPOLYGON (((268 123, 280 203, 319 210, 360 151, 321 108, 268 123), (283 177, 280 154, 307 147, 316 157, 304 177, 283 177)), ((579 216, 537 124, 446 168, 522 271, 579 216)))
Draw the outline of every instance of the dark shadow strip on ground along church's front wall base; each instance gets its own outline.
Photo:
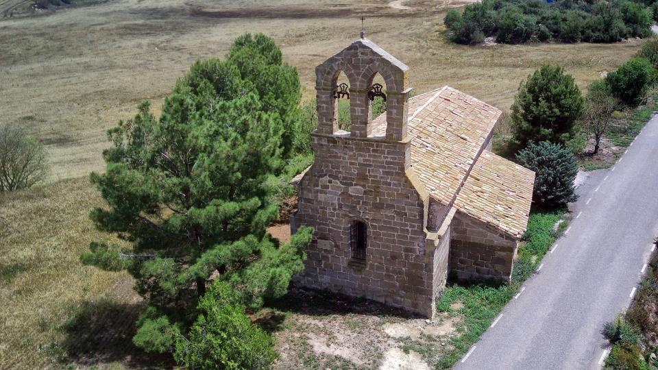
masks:
POLYGON ((331 314, 359 314, 378 317, 398 317, 418 319, 402 308, 381 304, 364 297, 350 297, 341 293, 292 286, 286 295, 267 302, 267 308, 256 314, 254 323, 267 332, 282 330, 287 313, 306 314, 309 316, 328 316, 331 314))

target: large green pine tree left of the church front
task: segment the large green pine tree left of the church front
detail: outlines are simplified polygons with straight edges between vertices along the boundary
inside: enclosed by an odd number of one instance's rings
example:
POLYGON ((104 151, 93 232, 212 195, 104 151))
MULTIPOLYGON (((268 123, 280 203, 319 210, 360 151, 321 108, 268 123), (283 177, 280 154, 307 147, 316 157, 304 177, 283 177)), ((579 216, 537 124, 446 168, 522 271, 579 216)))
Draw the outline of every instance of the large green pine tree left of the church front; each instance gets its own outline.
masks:
POLYGON ((90 218, 130 248, 92 243, 81 259, 135 278, 149 304, 136 345, 171 351, 210 280, 258 306, 302 270, 311 230, 286 245, 265 231, 278 217, 284 125, 263 104, 232 62, 206 60, 176 84, 159 119, 141 103, 109 130, 106 173, 91 175, 107 206, 90 218))

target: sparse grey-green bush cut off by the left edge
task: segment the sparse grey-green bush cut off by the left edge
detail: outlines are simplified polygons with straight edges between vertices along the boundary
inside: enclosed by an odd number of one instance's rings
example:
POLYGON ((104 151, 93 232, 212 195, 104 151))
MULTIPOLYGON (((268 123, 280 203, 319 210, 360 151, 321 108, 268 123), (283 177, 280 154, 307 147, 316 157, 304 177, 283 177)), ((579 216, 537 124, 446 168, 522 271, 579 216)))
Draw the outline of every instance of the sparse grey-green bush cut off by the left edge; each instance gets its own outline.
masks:
POLYGON ((47 172, 43 145, 18 125, 0 125, 0 193, 30 188, 47 172))

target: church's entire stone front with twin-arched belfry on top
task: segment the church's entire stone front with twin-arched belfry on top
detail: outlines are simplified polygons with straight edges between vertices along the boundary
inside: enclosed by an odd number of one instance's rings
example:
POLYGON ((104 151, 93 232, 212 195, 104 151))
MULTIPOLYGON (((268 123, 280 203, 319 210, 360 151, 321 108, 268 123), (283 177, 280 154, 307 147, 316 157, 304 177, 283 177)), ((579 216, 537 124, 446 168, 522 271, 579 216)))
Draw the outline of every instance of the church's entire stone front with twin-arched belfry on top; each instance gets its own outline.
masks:
POLYGON ((424 251, 426 203, 407 171, 408 71, 367 39, 317 66, 315 163, 300 182, 293 229, 315 227, 306 270, 298 278, 302 284, 429 315, 433 260, 424 251), (351 132, 337 124, 334 92, 341 72, 350 82, 351 132), (387 127, 380 136, 372 134, 368 97, 376 73, 387 93, 387 127), (355 222, 365 225, 363 258, 350 247, 355 222))

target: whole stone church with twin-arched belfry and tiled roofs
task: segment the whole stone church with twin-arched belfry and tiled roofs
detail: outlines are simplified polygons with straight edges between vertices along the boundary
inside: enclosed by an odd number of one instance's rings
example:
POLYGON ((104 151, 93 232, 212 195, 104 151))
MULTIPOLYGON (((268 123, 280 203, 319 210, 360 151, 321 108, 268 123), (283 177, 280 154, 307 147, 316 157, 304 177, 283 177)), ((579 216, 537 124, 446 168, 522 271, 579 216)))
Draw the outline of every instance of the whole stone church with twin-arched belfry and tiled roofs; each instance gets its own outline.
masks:
POLYGON ((410 99, 409 67, 363 34, 315 74, 315 162, 293 179, 291 217, 315 234, 295 282, 432 317, 448 275, 509 281, 535 173, 489 151, 500 110, 448 86, 410 99), (374 96, 387 101, 376 119, 374 96))

